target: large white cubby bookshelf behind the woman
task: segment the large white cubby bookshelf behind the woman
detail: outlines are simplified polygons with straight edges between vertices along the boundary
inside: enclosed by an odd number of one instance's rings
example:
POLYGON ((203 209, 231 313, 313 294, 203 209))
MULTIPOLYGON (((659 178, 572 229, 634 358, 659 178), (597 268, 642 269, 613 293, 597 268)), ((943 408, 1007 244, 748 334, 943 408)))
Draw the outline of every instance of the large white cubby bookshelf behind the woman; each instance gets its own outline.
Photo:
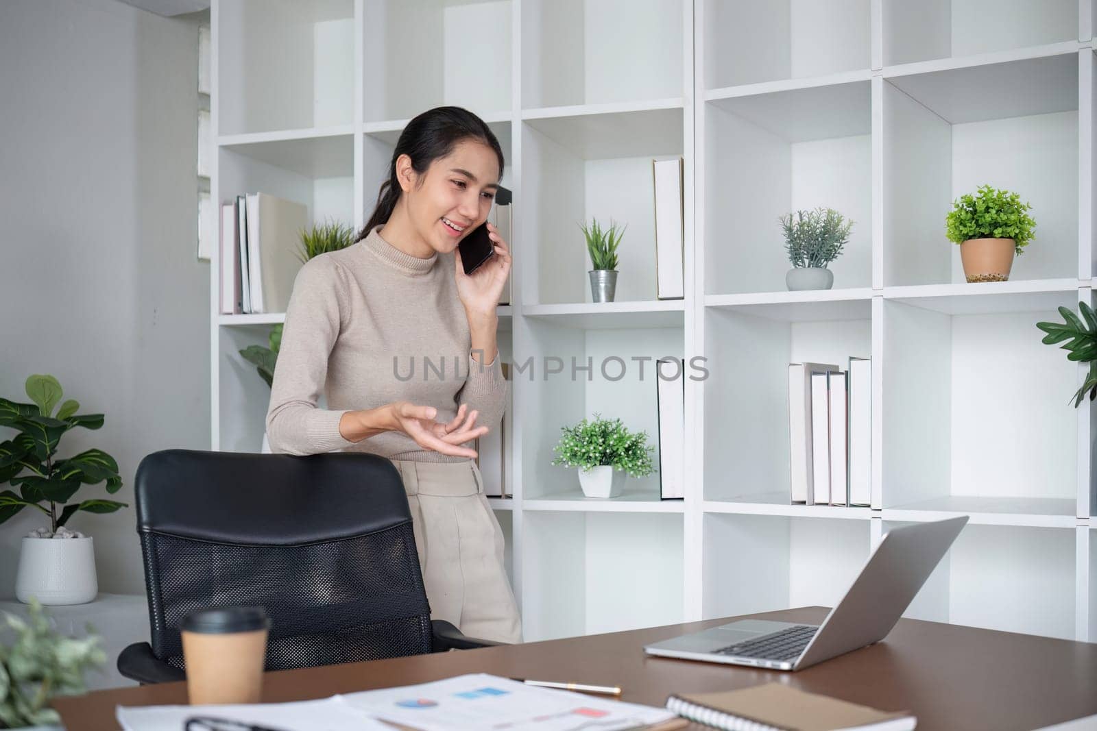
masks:
MULTIPOLYGON (((419 112, 465 106, 504 147, 499 343, 534 372, 511 382, 513 496, 489 503, 527 639, 829 605, 889 529, 964 514, 909 616, 1097 641, 1097 411, 1034 327, 1092 301, 1093 2, 916 4, 214 0, 215 199, 357 229, 419 112), (686 297, 658 300, 651 161, 679 156, 686 297), (943 221, 983 182, 1032 203, 1037 239, 1009 282, 966 284, 943 221), (814 206, 853 236, 833 289, 790 293, 777 219, 814 206), (612 304, 590 298, 592 216, 629 227, 612 304), (654 476, 585 498, 551 465, 559 427, 656 435, 668 355, 708 357, 686 499, 654 476), (873 359, 874 505, 790 505, 785 367, 850 355, 873 359)), ((269 389, 237 350, 283 316, 219 315, 212 269, 213 448, 258 452, 269 389)))

